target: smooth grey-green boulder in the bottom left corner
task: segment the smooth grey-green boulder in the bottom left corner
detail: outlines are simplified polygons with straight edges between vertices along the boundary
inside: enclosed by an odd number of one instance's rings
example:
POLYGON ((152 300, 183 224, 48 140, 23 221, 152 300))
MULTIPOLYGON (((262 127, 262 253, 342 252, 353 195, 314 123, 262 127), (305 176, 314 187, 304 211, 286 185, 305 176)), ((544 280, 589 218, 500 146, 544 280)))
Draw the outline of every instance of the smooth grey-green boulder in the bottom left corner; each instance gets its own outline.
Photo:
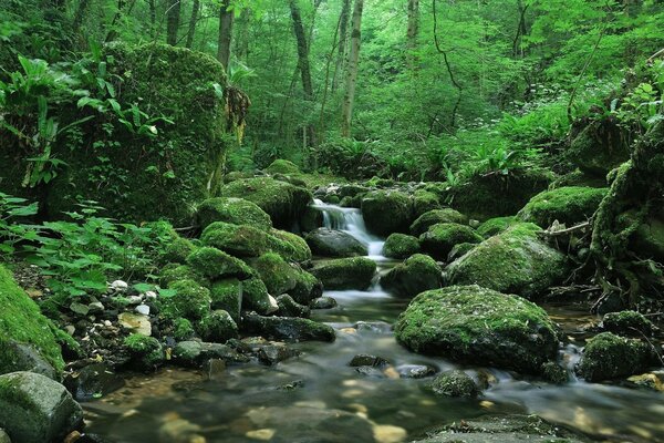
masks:
POLYGON ((83 410, 60 383, 32 372, 0 375, 0 429, 15 443, 62 441, 83 425, 83 410))

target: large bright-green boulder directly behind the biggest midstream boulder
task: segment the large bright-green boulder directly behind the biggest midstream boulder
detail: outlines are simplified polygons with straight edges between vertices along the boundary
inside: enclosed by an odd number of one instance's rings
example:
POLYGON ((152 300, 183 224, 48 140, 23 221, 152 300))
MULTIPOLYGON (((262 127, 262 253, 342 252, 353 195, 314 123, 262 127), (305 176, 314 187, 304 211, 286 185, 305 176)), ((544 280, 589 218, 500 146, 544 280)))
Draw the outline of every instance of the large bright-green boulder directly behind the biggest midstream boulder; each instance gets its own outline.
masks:
POLYGON ((454 285, 474 285, 533 298, 560 284, 568 271, 563 254, 538 238, 541 229, 519 224, 494 236, 446 269, 454 285))

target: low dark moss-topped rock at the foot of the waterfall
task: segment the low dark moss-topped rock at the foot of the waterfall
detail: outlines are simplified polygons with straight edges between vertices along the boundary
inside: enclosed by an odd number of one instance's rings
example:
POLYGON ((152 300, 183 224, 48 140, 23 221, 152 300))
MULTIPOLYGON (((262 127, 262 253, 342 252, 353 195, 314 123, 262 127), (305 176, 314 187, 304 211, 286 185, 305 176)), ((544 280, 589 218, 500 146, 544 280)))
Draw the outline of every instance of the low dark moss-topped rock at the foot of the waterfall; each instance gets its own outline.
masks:
POLYGON ((366 257, 339 258, 318 262, 311 274, 326 290, 365 290, 376 274, 376 264, 366 257))

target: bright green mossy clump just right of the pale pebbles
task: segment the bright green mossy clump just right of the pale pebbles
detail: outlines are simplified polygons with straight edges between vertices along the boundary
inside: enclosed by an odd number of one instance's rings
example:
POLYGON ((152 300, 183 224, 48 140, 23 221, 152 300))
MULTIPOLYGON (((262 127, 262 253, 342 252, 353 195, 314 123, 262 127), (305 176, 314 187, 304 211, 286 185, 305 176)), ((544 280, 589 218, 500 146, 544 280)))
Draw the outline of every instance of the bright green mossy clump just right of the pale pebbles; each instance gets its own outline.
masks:
POLYGON ((200 320, 210 311, 210 291, 194 280, 174 281, 169 286, 176 291, 170 297, 162 297, 162 315, 168 319, 184 317, 200 320))

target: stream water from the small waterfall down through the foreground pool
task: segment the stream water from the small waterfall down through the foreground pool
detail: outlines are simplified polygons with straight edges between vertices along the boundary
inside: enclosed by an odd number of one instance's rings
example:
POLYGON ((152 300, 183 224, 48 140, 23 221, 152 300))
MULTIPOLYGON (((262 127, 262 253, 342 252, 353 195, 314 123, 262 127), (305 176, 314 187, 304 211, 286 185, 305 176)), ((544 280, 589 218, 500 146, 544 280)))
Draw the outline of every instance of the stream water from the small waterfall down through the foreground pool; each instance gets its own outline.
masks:
MULTIPOLYGON (((378 274, 393 262, 382 240, 364 228, 357 209, 318 203, 325 226, 342 229, 370 247, 378 274)), ((165 370, 137 375, 127 387, 85 405, 90 431, 114 442, 396 442, 455 420, 487 413, 535 413, 584 432, 622 442, 664 441, 663 394, 579 380, 559 387, 491 368, 459 367, 400 347, 391 324, 407 301, 375 285, 369 291, 326 291, 339 307, 314 311, 336 329, 334 343, 294 347, 300 358, 264 367, 230 367, 209 377, 201 371, 165 370), (383 357, 390 369, 363 374, 349 367, 359 353, 383 357), (409 365, 459 368, 490 388, 477 400, 446 399, 427 390, 429 379, 398 378, 409 365), (407 435, 407 436, 405 436, 407 435)), ((548 306, 569 344, 568 367, 578 359, 591 320, 574 307, 548 306)))

